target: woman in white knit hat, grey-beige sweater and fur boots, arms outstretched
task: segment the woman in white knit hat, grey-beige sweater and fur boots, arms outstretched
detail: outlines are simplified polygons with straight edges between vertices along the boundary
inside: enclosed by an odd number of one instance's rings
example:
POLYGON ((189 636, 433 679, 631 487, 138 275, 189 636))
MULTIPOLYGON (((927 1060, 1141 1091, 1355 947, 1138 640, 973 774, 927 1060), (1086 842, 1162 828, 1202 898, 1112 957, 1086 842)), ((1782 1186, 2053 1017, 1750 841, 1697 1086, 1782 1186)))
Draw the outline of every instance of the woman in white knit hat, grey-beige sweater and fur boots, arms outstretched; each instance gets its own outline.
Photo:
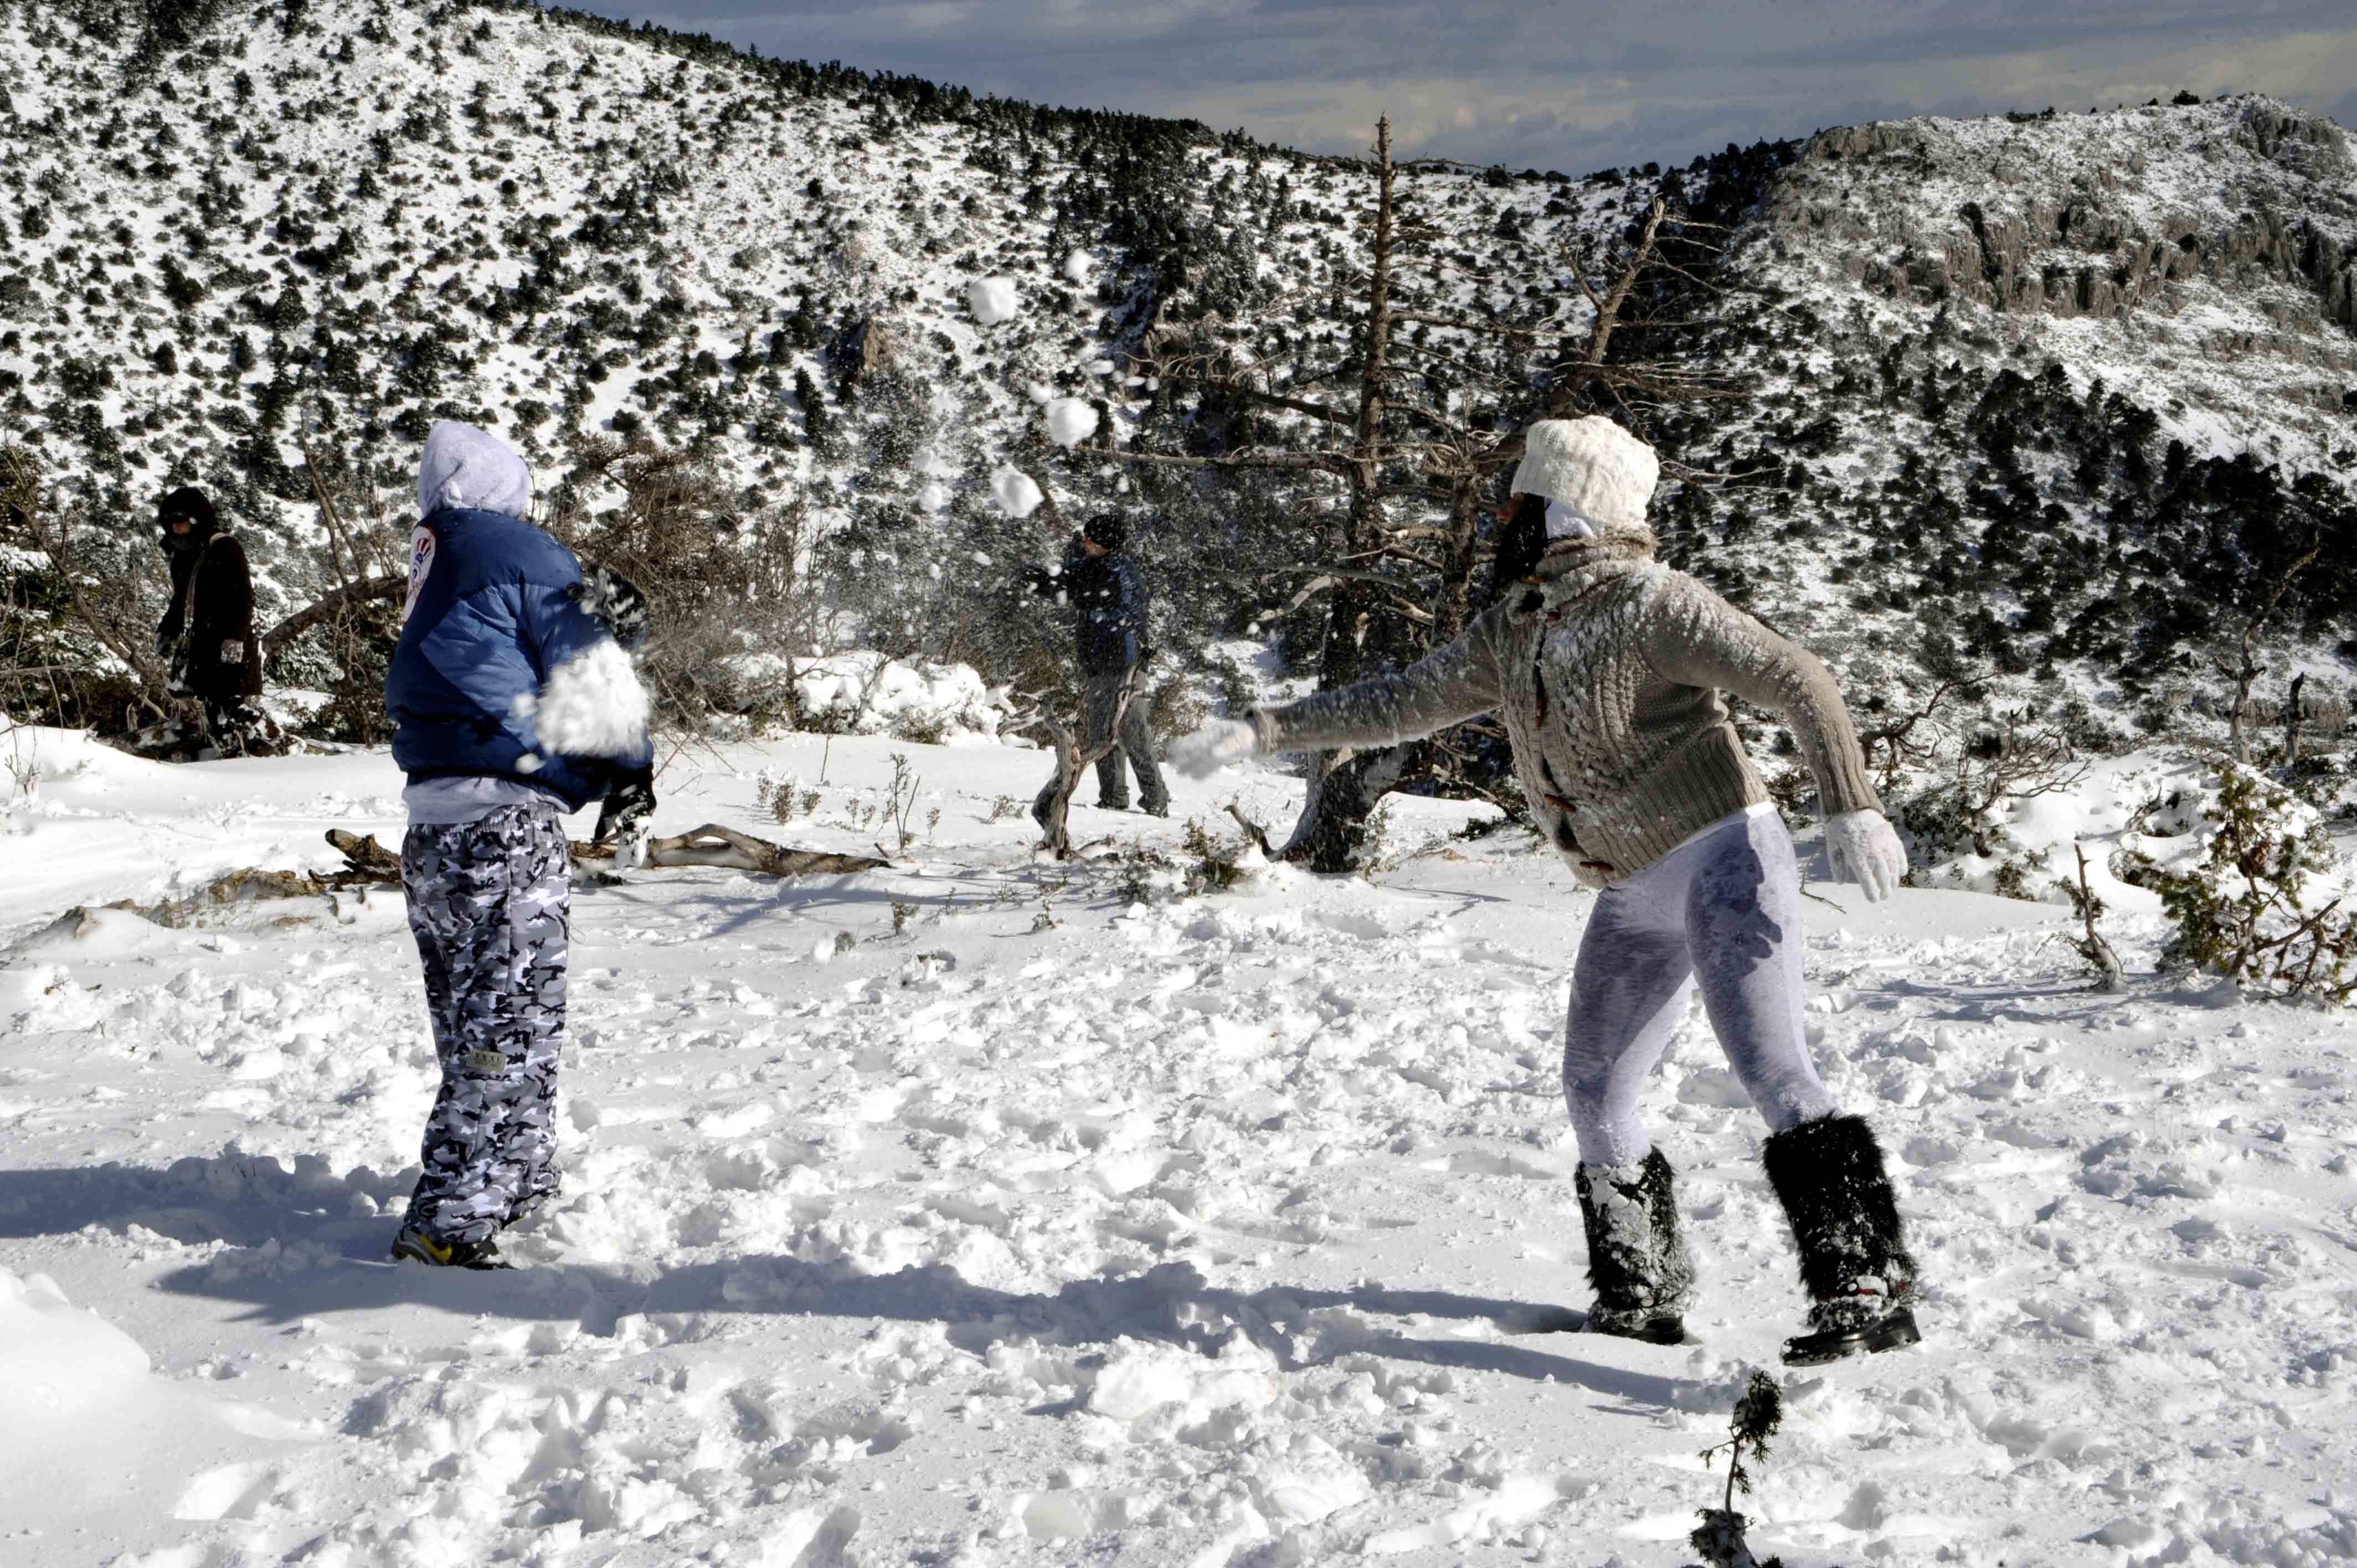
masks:
POLYGON ((1655 561, 1659 462, 1610 420, 1530 427, 1516 472, 1537 566, 1431 658, 1343 691, 1214 719, 1171 747, 1197 778, 1259 752, 1393 745, 1506 722, 1532 818, 1600 891, 1572 971, 1563 1087, 1598 1332, 1673 1344, 1692 1294, 1669 1160, 1636 1115, 1688 990, 1768 1120, 1768 1181, 1801 1252, 1796 1365, 1919 1339, 1914 1259, 1871 1129, 1817 1080, 1803 1033, 1801 870, 1723 691, 1775 712, 1817 776, 1834 875, 1888 898, 1907 854, 1850 714, 1805 648, 1655 561), (1544 521, 1541 521, 1544 512, 1544 521))

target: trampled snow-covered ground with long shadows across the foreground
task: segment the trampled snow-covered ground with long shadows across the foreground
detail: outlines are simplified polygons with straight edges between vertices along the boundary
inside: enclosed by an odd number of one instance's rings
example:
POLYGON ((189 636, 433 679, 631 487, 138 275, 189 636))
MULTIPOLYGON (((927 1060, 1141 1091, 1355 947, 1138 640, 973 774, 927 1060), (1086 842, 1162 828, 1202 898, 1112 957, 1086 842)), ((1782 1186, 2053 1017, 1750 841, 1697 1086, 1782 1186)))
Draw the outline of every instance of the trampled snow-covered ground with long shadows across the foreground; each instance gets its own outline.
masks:
MULTIPOLYGON (((1475 809, 1395 802, 1374 882, 1134 903, 1120 861, 1032 861, 1002 797, 1037 752, 691 747, 660 830, 764 830, 768 771, 820 804, 766 832, 832 849, 907 755, 912 861, 580 889, 566 1195, 528 1271, 443 1276, 379 1266, 434 1085, 398 896, 59 920, 391 842, 384 755, 40 747, 0 806, 9 1566, 1666 1568, 1798 1323, 1697 1019, 1648 1096, 1695 1342, 1563 1332, 1591 898, 1454 837, 1475 809)), ((1294 790, 1178 780, 1171 821, 1075 832, 1178 856, 1294 790)), ((2357 1556, 2350 1021, 2091 995, 2055 905, 1813 891, 1820 1059, 1895 1155, 1928 1337, 1780 1372, 1754 1547, 2357 1556)), ((2112 936, 2150 969, 2150 915, 2112 936)))

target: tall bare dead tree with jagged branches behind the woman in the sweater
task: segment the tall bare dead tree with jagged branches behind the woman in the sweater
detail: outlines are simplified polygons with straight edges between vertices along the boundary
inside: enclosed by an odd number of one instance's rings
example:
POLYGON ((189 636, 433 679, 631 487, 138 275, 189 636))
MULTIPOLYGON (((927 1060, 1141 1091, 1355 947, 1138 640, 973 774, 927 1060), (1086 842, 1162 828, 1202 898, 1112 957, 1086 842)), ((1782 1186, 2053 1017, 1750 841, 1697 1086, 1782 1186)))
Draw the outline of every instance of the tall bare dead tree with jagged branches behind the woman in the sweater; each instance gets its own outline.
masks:
MULTIPOLYGON (((1296 439, 1219 457, 1113 453, 1136 465, 1332 479, 1339 526, 1329 554, 1296 568, 1303 582, 1285 606, 1294 613, 1318 594, 1327 597, 1320 691, 1362 679, 1376 667, 1376 644, 1388 644, 1384 658, 1405 658, 1466 627, 1483 559, 1483 514, 1501 474, 1520 460, 1523 429, 1532 417, 1716 391, 1685 365, 1612 358, 1617 330, 1638 318, 1643 325, 1671 325, 1640 309, 1650 309, 1659 292, 1648 278, 1669 266, 1664 231, 1671 224, 1681 233, 1699 226, 1673 219, 1662 200, 1652 200, 1596 257, 1565 248, 1560 259, 1572 278, 1539 299, 1534 311, 1520 309, 1516 297, 1480 316, 1428 309, 1414 297, 1395 304, 1402 290, 1417 292, 1414 278, 1426 269, 1440 274, 1454 266, 1419 250, 1452 236, 1402 212, 1398 177, 1421 165, 1393 163, 1388 118, 1376 125, 1372 160, 1360 167, 1374 184, 1365 266, 1336 274, 1322 295, 1327 311, 1353 328, 1351 354, 1341 363, 1299 365, 1287 375, 1256 349, 1216 340, 1167 344, 1150 361, 1150 373, 1167 384, 1193 384, 1247 408, 1292 415, 1296 429, 1289 434, 1296 439), (1419 340, 1395 330, 1400 325, 1438 328, 1445 337, 1426 332, 1419 340), (1431 387, 1435 380, 1454 391, 1405 396, 1417 382, 1431 387)), ((1268 318, 1277 321, 1280 311, 1308 299, 1308 290, 1277 299, 1268 318)), ((1461 755, 1433 740, 1313 755, 1301 816, 1280 856, 1315 870, 1351 870, 1365 846, 1365 823, 1386 792, 1459 769, 1461 755)))

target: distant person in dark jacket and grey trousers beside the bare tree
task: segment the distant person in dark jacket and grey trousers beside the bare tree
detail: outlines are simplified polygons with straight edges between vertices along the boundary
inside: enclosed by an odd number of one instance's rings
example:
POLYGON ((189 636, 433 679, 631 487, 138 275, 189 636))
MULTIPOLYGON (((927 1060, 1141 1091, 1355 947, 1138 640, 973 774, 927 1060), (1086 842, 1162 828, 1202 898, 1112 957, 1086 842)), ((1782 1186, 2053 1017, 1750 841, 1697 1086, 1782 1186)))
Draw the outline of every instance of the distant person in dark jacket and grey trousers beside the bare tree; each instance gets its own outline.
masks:
MULTIPOLYGON (((1082 755, 1096 759, 1096 804, 1108 811, 1129 809, 1127 757, 1138 773, 1138 806, 1148 816, 1169 813, 1169 790, 1155 764, 1155 736, 1146 717, 1146 578, 1127 549, 1129 523, 1115 512, 1101 512, 1072 535, 1056 573, 1032 571, 1032 592, 1056 599, 1077 613, 1075 663, 1084 693, 1082 755)), ((1032 816, 1047 821, 1056 797, 1051 778, 1032 802, 1032 816)))

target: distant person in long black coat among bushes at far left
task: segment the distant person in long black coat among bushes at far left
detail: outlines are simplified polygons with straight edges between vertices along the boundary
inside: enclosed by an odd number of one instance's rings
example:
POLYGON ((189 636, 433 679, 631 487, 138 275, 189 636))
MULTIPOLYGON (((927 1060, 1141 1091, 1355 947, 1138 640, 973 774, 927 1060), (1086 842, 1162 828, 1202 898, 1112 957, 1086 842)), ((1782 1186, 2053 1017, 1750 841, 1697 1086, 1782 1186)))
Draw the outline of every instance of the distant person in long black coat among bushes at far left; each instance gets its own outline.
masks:
POLYGON ((156 507, 172 606, 156 627, 172 693, 205 705, 205 729, 222 752, 243 752, 262 714, 262 644, 255 639, 255 578, 245 547, 224 533, 212 502, 181 486, 156 507))

